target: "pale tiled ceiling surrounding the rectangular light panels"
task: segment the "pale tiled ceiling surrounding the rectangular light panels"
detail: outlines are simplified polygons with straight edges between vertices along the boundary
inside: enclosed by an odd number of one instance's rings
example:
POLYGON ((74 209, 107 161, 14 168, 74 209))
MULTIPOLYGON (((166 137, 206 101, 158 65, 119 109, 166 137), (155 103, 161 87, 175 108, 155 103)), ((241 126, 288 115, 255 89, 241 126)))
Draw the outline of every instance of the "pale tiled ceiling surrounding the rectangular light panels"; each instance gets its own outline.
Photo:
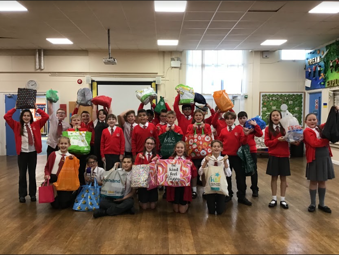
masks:
POLYGON ((314 49, 339 37, 339 14, 308 13, 322 1, 187 1, 183 13, 155 12, 154 1, 23 1, 0 12, 0 49, 262 50, 314 49), (46 38, 68 38, 53 45, 46 38), (179 40, 158 46, 158 39, 179 40), (260 46, 286 39, 281 46, 260 46))

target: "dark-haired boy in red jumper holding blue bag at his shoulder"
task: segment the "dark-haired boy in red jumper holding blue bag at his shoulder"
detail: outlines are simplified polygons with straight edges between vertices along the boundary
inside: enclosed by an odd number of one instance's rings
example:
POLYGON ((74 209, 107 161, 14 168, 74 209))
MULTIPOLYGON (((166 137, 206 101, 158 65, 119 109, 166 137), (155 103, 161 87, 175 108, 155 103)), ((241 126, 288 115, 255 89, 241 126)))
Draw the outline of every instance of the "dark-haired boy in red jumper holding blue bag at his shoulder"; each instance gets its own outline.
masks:
MULTIPOLYGON (((247 121, 247 113, 245 111, 240 111, 238 113, 239 126, 245 127, 245 123, 247 121)), ((260 126, 254 120, 249 120, 248 123, 253 126, 253 129, 250 129, 250 133, 248 135, 247 143, 250 148, 250 153, 253 158, 255 165, 257 165, 257 144, 254 140, 254 137, 262 137, 263 131, 260 126)), ((257 168, 257 167, 256 167, 257 168)), ((255 170, 255 173, 251 175, 251 190, 252 197, 258 197, 259 188, 258 188, 258 171, 255 170)))

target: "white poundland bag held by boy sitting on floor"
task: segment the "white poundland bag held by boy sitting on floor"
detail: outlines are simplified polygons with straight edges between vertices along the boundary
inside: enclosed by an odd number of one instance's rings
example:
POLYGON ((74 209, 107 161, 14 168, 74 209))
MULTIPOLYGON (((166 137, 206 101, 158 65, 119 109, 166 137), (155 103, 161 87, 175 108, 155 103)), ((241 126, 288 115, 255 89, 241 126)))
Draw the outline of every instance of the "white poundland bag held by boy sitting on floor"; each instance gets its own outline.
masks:
POLYGON ((123 170, 115 170, 115 167, 110 171, 106 171, 101 186, 101 195, 114 199, 122 199, 125 192, 127 173, 123 170))

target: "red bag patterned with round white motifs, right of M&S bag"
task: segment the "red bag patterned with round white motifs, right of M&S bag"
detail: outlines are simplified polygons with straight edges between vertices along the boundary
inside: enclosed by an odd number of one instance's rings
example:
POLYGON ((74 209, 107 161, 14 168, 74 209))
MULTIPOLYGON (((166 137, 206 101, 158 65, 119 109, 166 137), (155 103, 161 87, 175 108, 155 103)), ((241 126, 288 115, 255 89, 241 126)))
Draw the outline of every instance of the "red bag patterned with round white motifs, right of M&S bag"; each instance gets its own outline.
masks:
POLYGON ((205 135, 204 129, 202 129, 202 134, 197 134, 197 130, 195 130, 194 135, 185 136, 187 154, 193 159, 204 158, 212 153, 211 142, 211 134, 205 135))

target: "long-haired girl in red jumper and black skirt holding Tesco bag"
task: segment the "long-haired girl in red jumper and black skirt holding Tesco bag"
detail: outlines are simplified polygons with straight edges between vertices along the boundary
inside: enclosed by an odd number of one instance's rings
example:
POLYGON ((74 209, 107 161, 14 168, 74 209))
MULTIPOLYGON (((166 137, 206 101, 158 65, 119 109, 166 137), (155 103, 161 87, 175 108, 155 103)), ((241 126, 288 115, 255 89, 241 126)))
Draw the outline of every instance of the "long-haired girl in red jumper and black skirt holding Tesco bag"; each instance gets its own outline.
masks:
MULTIPOLYGON (((269 207, 277 205, 277 181, 280 175, 280 205, 288 209, 285 202, 286 176, 291 175, 289 169, 289 147, 283 136, 285 130, 280 124, 282 113, 274 110, 270 113, 269 125, 265 129, 265 145, 268 147, 269 160, 266 174, 271 175, 272 201, 269 207)), ((297 145, 298 143, 291 143, 297 145)))

